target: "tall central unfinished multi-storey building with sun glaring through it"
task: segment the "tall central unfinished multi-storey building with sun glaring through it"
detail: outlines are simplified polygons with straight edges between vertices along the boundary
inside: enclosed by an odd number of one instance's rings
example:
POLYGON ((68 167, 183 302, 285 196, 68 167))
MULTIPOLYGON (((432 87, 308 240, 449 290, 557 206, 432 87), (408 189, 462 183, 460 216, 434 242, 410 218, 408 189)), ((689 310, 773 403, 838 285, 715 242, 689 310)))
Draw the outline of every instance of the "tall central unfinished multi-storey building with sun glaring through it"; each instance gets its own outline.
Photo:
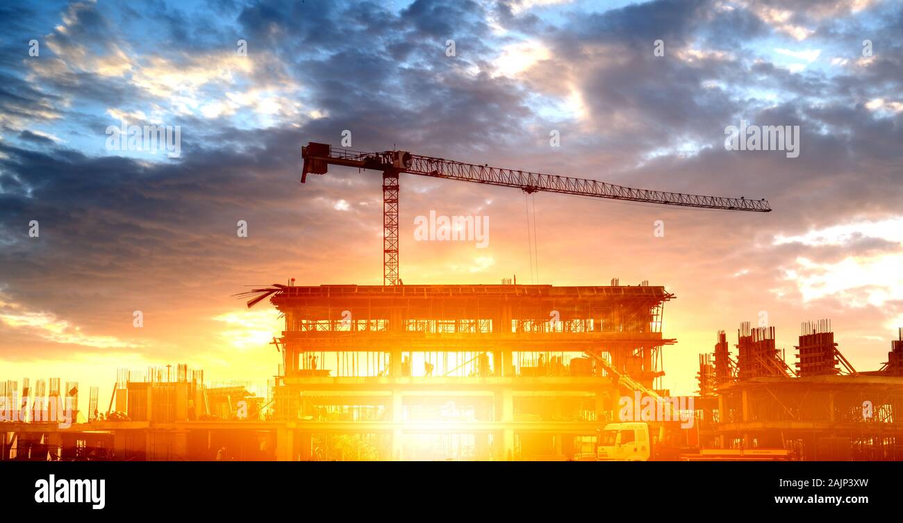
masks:
POLYGON ((567 459, 595 451, 617 385, 654 388, 661 286, 279 285, 282 459, 567 459), (616 380, 615 380, 616 382, 616 380))

